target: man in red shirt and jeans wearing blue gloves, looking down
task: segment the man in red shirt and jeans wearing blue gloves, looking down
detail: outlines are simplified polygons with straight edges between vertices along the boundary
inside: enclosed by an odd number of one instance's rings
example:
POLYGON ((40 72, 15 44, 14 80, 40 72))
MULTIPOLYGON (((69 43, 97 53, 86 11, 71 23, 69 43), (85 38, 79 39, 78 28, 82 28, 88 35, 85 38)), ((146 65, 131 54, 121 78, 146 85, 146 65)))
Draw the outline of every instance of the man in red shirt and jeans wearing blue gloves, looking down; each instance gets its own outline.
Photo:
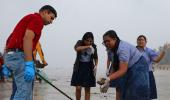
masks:
POLYGON ((35 76, 33 51, 41 36, 44 25, 51 24, 57 17, 56 10, 45 5, 39 13, 23 17, 6 42, 3 73, 12 72, 13 92, 11 100, 32 100, 32 87, 35 76))

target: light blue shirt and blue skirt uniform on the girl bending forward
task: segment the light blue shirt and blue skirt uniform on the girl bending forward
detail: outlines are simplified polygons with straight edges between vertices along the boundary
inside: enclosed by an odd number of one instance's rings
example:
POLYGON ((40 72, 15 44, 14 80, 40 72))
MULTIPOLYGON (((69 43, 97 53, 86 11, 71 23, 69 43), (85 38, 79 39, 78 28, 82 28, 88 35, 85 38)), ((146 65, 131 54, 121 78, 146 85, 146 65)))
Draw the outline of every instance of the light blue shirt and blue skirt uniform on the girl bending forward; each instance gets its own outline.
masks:
POLYGON ((121 100, 150 100, 149 67, 142 53, 135 46, 120 40, 115 54, 118 62, 128 63, 126 74, 116 80, 121 100))

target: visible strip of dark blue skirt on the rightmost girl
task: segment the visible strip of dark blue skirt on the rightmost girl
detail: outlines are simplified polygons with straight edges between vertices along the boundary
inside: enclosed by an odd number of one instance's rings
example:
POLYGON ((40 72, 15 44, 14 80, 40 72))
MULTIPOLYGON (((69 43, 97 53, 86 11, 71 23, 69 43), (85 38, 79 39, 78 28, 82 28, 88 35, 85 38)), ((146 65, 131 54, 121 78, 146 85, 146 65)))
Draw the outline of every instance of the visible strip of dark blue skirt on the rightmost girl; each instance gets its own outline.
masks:
POLYGON ((157 88, 155 83, 155 77, 152 71, 149 71, 149 82, 150 82, 150 99, 157 99, 157 88))

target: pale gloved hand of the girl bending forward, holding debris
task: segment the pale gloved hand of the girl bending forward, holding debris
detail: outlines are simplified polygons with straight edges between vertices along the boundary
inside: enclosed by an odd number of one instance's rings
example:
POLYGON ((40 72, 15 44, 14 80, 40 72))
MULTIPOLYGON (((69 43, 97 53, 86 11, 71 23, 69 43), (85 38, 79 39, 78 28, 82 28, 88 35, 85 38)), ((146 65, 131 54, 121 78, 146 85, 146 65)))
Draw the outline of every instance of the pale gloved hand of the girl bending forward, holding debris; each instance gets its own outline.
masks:
POLYGON ((110 78, 108 77, 104 84, 100 86, 100 92, 101 93, 106 93, 107 90, 109 89, 109 86, 110 86, 110 78))

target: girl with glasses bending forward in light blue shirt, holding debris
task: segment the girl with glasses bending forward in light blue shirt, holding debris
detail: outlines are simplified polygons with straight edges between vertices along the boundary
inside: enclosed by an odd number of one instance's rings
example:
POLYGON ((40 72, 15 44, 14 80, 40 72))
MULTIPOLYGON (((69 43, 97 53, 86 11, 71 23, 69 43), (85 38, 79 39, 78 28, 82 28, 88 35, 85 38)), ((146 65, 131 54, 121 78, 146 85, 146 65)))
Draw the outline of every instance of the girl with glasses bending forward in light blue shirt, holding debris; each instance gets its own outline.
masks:
POLYGON ((115 80, 121 93, 120 100, 150 100, 149 66, 142 53, 120 40, 114 30, 103 35, 103 44, 113 52, 113 64, 117 70, 106 78, 101 90, 107 92, 110 81, 115 80))

